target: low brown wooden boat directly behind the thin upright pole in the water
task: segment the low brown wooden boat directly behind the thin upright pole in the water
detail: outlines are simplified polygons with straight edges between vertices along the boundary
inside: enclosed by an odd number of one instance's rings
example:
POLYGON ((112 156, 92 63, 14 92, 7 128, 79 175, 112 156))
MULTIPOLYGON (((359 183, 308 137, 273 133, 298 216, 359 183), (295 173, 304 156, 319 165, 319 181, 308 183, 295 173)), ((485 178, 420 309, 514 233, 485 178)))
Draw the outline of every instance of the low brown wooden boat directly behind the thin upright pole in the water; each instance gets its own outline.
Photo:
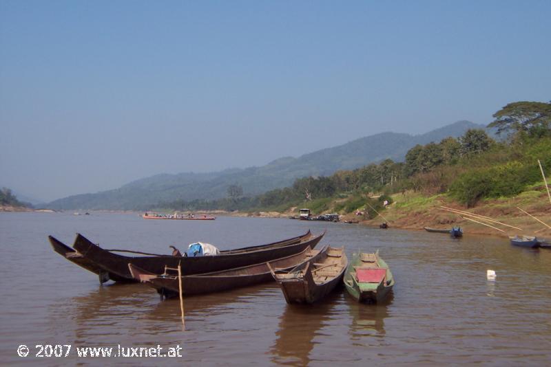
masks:
MULTIPOLYGON (((328 248, 326 246, 321 250, 315 250, 311 249, 311 247, 306 247, 306 249, 298 254, 265 263, 213 271, 205 274, 182 276, 182 293, 186 296, 191 296, 270 282, 273 281, 270 273, 271 268, 291 269, 300 264, 317 261, 324 252, 327 252, 328 248)), ((161 297, 174 297, 180 293, 178 274, 175 274, 174 271, 176 268, 165 269, 163 274, 153 274, 132 264, 128 264, 128 268, 134 279, 145 282, 149 287, 155 288, 161 297)))

